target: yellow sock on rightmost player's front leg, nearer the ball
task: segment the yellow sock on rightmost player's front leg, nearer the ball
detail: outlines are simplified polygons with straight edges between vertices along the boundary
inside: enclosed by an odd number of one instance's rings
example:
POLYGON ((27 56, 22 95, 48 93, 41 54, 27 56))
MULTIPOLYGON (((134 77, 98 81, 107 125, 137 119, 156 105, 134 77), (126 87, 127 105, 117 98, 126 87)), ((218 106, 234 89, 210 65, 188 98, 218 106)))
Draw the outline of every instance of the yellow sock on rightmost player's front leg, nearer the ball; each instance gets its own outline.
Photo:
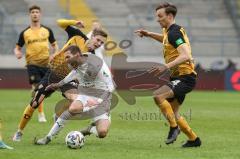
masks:
POLYGON ((164 116, 167 118, 169 124, 171 127, 176 127, 177 126, 177 122, 175 120, 175 116, 172 110, 172 107, 170 105, 170 103, 167 100, 164 100, 160 105, 159 105, 162 113, 164 114, 164 116))

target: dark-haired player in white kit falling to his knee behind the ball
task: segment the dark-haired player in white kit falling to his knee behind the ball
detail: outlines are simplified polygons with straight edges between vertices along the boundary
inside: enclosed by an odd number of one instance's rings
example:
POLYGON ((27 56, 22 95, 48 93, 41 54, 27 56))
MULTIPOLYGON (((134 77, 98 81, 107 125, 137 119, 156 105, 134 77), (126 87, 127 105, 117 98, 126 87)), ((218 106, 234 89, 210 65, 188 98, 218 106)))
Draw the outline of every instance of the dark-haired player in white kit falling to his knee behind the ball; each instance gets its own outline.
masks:
POLYGON ((64 127, 67 120, 74 116, 81 117, 84 113, 90 113, 96 126, 89 129, 89 134, 94 133, 104 138, 110 127, 111 93, 114 84, 110 70, 102 59, 92 54, 83 55, 77 46, 69 46, 65 50, 65 59, 72 67, 72 71, 60 82, 50 84, 47 90, 56 90, 64 84, 78 80, 78 95, 64 111, 49 133, 35 144, 48 144, 54 136, 64 127))

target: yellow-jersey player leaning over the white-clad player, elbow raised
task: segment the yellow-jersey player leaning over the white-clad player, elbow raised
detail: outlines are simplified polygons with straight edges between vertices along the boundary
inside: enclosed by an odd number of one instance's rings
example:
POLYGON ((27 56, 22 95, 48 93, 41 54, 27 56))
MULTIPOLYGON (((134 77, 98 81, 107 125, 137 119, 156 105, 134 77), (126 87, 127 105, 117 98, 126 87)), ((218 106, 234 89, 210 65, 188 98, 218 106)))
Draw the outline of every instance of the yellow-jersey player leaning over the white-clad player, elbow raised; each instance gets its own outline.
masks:
MULTIPOLYGON (((83 27, 83 23, 81 21, 60 19, 57 22, 58 25, 67 32, 68 41, 58 53, 53 55, 53 59, 50 62, 50 70, 40 81, 34 97, 32 98, 30 104, 27 105, 19 123, 18 130, 13 136, 13 141, 21 140, 23 129, 26 127, 34 110, 38 108, 39 103, 54 92, 53 90, 46 90, 46 87, 50 83, 59 82, 70 72, 64 57, 65 49, 69 45, 76 45, 83 53, 90 52, 95 54, 95 49, 102 46, 107 40, 107 34, 100 29, 93 30, 91 38, 88 39, 87 36, 78 29, 83 27)), ((60 87, 60 90, 64 97, 70 101, 75 99, 77 96, 77 87, 74 82, 64 84, 60 87)))

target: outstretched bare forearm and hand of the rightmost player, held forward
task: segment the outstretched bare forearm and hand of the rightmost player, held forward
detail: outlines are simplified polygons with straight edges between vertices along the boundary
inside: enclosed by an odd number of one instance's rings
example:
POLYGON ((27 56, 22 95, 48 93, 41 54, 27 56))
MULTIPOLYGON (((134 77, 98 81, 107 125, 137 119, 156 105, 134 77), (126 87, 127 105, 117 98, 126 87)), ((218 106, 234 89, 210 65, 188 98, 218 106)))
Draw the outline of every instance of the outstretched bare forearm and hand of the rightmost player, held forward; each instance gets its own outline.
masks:
POLYGON ((154 32, 150 32, 148 30, 144 30, 144 29, 138 29, 136 30, 134 33, 136 33, 139 37, 150 37, 154 40, 157 40, 159 42, 163 42, 163 35, 159 34, 159 33, 154 33, 154 32))

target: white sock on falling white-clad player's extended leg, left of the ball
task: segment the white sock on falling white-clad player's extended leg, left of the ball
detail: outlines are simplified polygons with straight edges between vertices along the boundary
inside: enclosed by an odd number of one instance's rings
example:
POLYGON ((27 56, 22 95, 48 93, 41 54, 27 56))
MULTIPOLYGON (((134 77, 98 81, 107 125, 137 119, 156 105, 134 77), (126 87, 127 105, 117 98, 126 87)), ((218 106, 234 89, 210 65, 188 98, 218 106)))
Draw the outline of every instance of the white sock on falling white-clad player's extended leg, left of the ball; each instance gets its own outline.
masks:
POLYGON ((48 137, 52 139, 53 136, 56 136, 64 127, 65 123, 69 118, 71 118, 73 115, 68 111, 64 111, 61 116, 57 119, 57 121, 54 123, 53 127, 47 134, 48 137))

